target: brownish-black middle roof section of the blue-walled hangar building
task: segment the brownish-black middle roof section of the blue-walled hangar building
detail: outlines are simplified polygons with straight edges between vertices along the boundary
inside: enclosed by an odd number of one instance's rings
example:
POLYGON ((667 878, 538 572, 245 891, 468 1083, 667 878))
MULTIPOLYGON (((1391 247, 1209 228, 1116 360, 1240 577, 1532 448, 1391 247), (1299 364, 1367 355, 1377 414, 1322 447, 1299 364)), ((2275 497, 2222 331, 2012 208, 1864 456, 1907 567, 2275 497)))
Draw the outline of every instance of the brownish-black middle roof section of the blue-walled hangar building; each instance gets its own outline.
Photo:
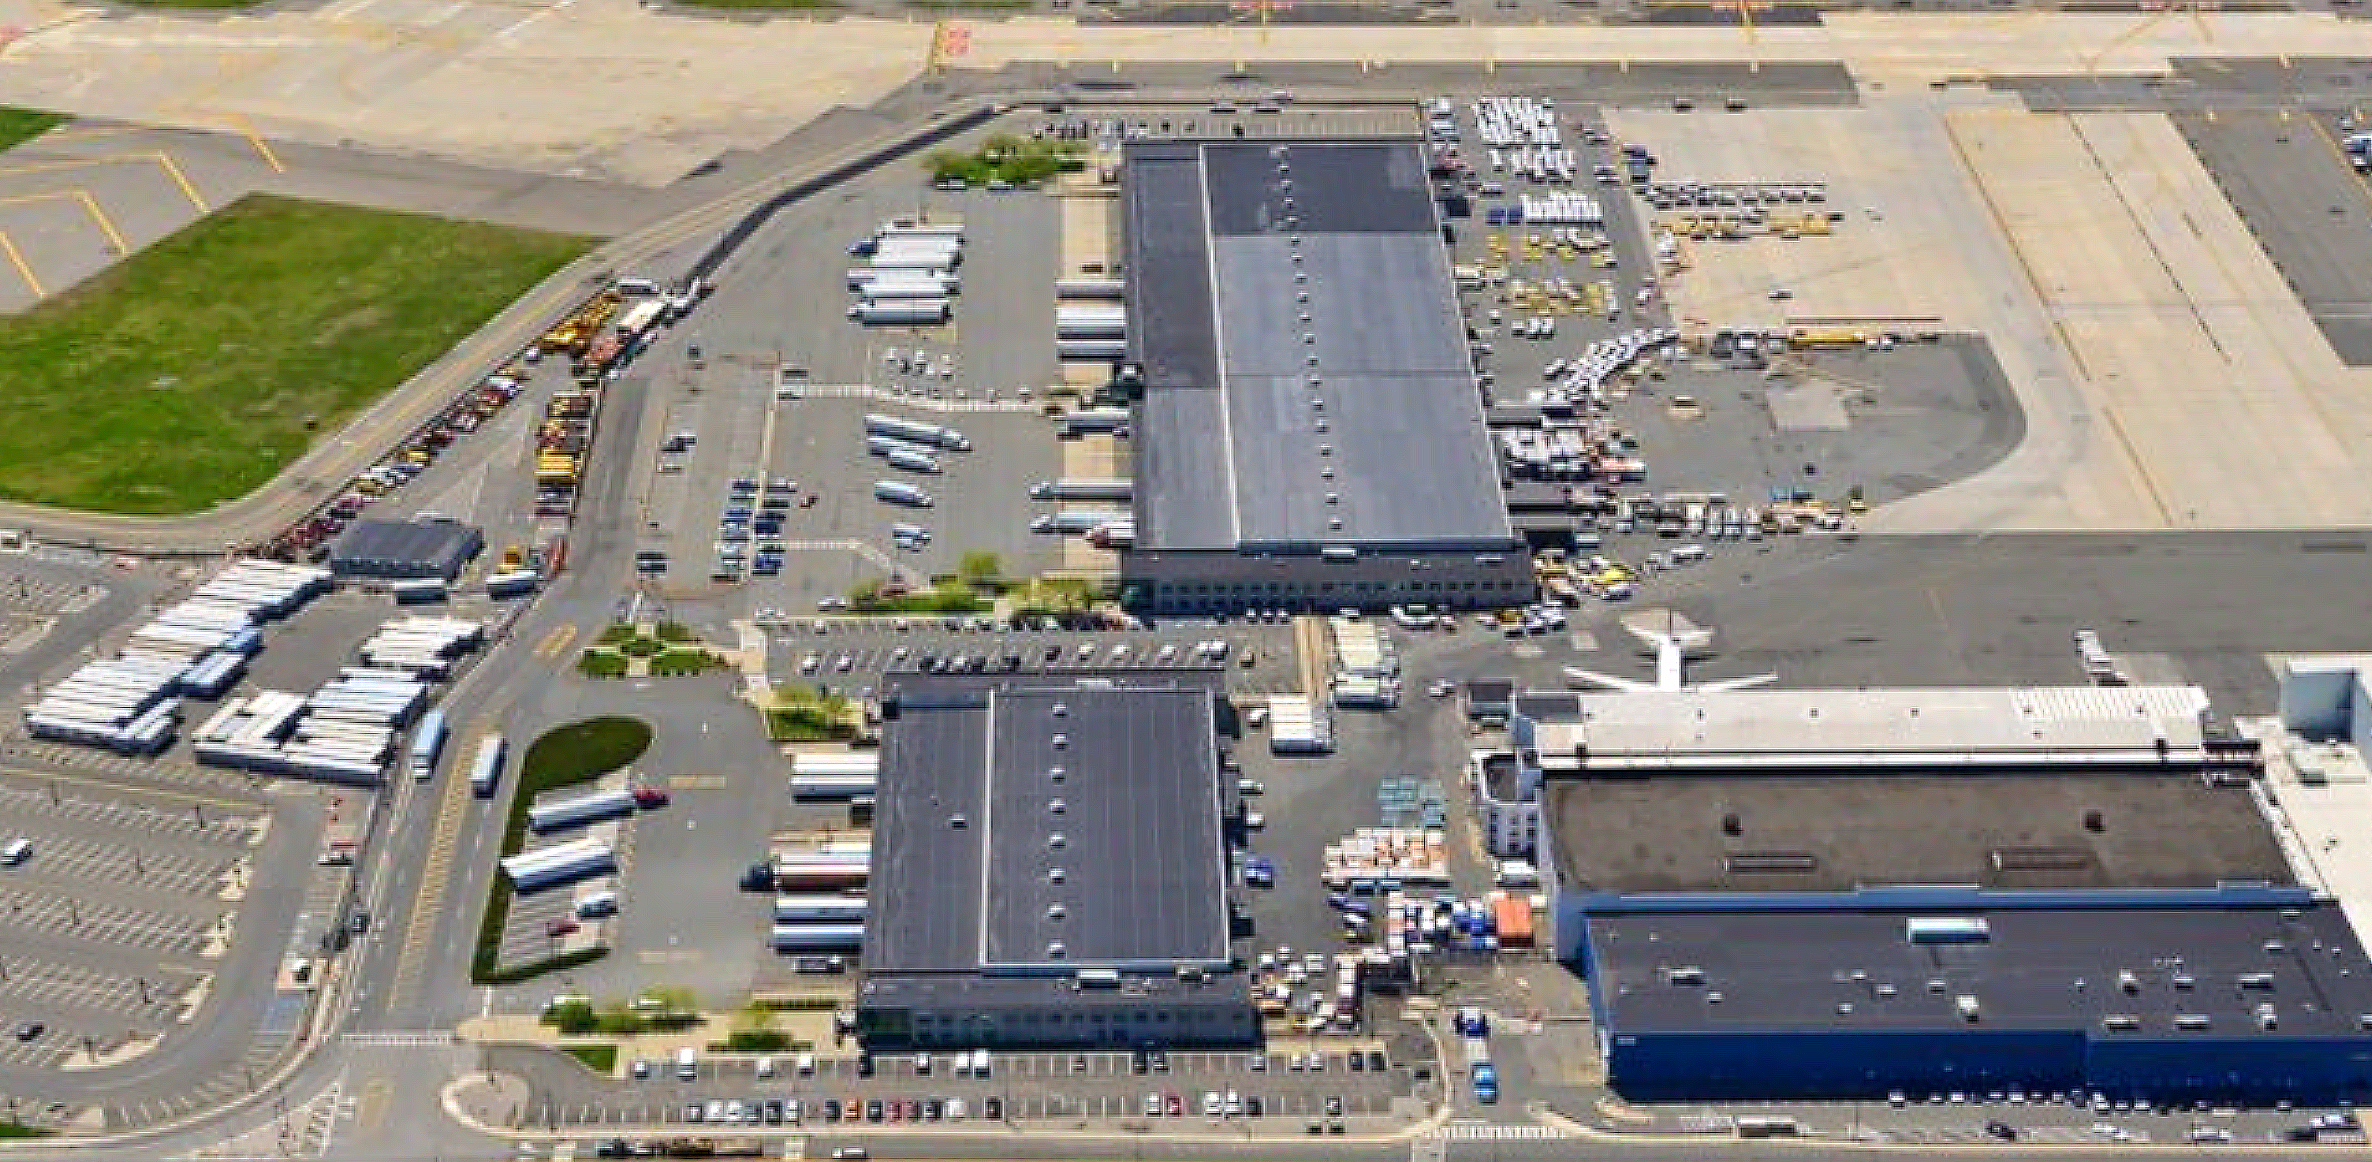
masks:
POLYGON ((1551 778, 1542 797, 1580 892, 2294 882, 2246 785, 2166 768, 1551 778))

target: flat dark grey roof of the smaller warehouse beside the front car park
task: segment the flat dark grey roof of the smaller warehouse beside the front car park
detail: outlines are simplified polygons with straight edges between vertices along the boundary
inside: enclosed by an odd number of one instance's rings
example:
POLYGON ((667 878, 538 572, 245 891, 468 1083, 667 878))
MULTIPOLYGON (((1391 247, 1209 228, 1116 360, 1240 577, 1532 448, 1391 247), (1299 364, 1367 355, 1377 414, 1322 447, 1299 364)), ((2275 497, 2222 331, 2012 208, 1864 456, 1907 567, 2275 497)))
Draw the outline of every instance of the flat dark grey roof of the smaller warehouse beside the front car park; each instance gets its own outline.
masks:
POLYGON ((894 683, 866 970, 1226 965, 1212 681, 1160 671, 894 683))

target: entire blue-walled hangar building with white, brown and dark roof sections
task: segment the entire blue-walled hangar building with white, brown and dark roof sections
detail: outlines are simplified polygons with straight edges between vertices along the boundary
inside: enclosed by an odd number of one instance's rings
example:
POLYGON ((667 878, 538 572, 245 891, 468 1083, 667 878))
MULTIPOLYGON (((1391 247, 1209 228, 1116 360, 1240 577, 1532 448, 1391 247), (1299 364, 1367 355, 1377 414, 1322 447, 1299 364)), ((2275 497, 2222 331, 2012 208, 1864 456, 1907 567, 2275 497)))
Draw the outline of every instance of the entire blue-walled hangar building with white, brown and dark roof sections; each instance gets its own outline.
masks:
POLYGON ((1625 1093, 2372 1084, 2372 963, 2194 688, 1518 695, 1511 726, 1625 1093))

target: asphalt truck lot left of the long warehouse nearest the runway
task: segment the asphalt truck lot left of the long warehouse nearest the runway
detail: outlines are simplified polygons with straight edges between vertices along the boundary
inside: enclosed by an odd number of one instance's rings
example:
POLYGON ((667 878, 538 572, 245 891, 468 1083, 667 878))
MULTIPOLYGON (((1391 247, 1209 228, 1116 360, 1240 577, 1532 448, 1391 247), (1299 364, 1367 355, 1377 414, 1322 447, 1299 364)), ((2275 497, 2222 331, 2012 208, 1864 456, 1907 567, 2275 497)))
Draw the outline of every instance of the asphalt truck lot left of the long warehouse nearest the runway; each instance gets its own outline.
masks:
MULTIPOLYGON (((963 147, 968 142, 958 142, 963 147)), ((1058 562, 1053 538, 1029 534, 1029 484, 1060 467, 1056 427, 1027 398, 1058 382, 1053 280, 1058 206, 1037 192, 932 192, 925 175, 890 166, 833 199, 778 216, 719 273, 695 325, 645 356, 652 382, 643 424, 645 477, 638 548, 667 555, 669 593, 714 593, 719 517, 735 477, 797 481, 783 510, 778 576, 750 576, 759 607, 814 609, 859 581, 927 581, 963 553, 996 553, 1013 576, 1058 562), (963 221, 965 251, 954 323, 861 327, 844 318, 849 244, 890 218, 963 221), (946 424, 973 439, 939 474, 890 470, 866 455, 866 413, 946 424), (678 434, 690 448, 662 451, 678 434), (932 493, 930 507, 885 505, 880 479, 932 493), (935 536, 899 550, 890 524, 935 536)))

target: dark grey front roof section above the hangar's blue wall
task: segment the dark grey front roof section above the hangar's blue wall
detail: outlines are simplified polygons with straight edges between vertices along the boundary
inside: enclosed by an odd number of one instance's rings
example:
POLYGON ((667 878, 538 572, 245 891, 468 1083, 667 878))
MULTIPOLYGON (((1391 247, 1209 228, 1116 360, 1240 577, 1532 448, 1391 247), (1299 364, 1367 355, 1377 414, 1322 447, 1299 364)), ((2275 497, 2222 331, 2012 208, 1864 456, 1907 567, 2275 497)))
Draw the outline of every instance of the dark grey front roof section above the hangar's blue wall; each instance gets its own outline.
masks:
POLYGON ((1589 951, 1615 1034, 2372 1036, 2372 963, 2334 906, 1601 915, 1589 951), (1983 939, 1914 941, 1914 920, 1981 920, 1983 939))

